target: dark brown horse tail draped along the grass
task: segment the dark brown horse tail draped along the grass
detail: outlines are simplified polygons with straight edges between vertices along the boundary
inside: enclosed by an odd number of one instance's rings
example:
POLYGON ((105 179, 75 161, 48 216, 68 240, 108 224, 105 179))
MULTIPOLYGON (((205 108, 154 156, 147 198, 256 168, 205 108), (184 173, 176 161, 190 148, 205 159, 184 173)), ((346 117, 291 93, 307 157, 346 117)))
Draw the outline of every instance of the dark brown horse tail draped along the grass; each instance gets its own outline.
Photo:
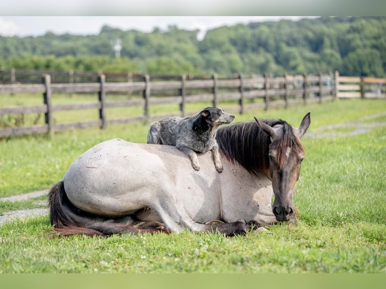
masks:
POLYGON ((56 236, 167 233, 164 227, 159 227, 159 224, 151 224, 151 222, 145 222, 143 226, 134 226, 134 220, 130 216, 104 219, 91 215, 70 202, 63 181, 56 183, 49 191, 48 205, 50 222, 56 236))

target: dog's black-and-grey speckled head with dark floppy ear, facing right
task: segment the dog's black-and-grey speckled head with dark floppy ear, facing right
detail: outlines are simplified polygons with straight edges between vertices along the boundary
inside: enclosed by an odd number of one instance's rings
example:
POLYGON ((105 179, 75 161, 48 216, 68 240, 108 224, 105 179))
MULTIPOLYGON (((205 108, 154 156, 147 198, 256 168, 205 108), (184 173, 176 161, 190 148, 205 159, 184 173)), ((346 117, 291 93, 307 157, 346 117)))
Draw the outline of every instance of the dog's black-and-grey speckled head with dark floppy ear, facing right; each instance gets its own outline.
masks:
POLYGON ((197 113, 195 118, 193 130, 197 133, 203 133, 212 128, 217 128, 221 124, 231 123, 234 120, 234 115, 224 112, 217 106, 208 106, 197 113))

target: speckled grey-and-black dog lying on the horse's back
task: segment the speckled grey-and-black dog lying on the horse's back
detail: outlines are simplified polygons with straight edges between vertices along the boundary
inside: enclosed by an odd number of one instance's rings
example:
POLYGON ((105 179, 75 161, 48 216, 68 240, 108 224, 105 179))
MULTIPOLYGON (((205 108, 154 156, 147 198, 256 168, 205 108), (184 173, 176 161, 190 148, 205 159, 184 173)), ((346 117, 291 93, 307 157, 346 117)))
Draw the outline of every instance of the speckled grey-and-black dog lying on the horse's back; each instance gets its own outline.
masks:
POLYGON ((234 117, 217 106, 205 107, 191 117, 167 117, 150 125, 147 142, 176 147, 188 155, 196 171, 200 170, 196 152, 211 151, 216 170, 221 173, 223 166, 216 133, 221 124, 231 123, 234 117))

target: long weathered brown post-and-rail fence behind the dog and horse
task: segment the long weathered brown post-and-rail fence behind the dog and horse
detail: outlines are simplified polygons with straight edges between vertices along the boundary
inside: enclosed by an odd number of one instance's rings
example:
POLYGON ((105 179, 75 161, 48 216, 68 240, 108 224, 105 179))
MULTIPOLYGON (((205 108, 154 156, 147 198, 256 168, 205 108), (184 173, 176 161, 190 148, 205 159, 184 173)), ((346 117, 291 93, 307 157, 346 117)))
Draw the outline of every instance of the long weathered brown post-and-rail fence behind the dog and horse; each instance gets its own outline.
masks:
MULTIPOLYGON (((143 76, 139 81, 106 82, 106 76, 100 75, 98 82, 92 83, 52 83, 50 75, 45 75, 40 84, 4 84, 0 85, 0 94, 42 94, 42 104, 33 106, 8 106, 0 108, 1 117, 7 115, 24 115, 44 113, 43 125, 4 126, 0 127, 0 137, 27 135, 33 133, 49 133, 74 128, 100 127, 150 121, 170 114, 150 114, 150 106, 159 104, 178 104, 181 116, 190 115, 185 105, 194 102, 210 102, 221 106, 224 102, 233 102, 227 106, 227 112, 244 113, 246 110, 306 104, 334 100, 333 75, 298 75, 283 77, 255 76, 232 79, 219 79, 214 75, 211 79, 191 80, 186 76, 174 76, 174 80, 151 81, 150 76, 143 76), (107 101, 106 95, 127 93, 140 95, 137 98, 107 101), (160 92, 164 92, 163 94, 160 92), (95 94, 95 102, 52 104, 55 94, 95 94), (107 108, 138 107, 143 110, 141 116, 125 118, 109 118, 107 108), (99 112, 98 119, 91 121, 55 123, 54 114, 58 111, 91 109, 99 112)), ((196 111, 194 112, 196 113, 196 111)))

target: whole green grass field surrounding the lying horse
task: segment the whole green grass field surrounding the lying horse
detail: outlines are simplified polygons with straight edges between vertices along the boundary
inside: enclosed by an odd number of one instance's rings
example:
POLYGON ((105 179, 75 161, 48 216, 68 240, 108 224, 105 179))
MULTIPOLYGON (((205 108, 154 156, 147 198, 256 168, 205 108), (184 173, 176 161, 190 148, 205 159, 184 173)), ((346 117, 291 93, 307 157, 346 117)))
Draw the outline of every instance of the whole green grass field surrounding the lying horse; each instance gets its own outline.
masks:
MULTIPOLYGON (((221 104, 220 104, 221 106, 221 104)), ((311 112, 310 135, 294 203, 297 227, 226 238, 171 235, 48 239, 47 216, 0 227, 0 272, 373 272, 386 273, 386 126, 347 135, 347 122, 385 117, 384 100, 340 100, 236 115, 236 121, 282 118, 294 126, 311 112), (331 132, 339 131, 340 134, 331 132), (331 133, 331 134, 330 134, 331 133)), ((120 137, 145 142, 147 124, 111 126, 0 141, 0 197, 46 189, 94 144, 120 137)), ((40 198, 41 199, 41 198, 40 198)), ((33 202, 0 202, 0 214, 33 202)))

